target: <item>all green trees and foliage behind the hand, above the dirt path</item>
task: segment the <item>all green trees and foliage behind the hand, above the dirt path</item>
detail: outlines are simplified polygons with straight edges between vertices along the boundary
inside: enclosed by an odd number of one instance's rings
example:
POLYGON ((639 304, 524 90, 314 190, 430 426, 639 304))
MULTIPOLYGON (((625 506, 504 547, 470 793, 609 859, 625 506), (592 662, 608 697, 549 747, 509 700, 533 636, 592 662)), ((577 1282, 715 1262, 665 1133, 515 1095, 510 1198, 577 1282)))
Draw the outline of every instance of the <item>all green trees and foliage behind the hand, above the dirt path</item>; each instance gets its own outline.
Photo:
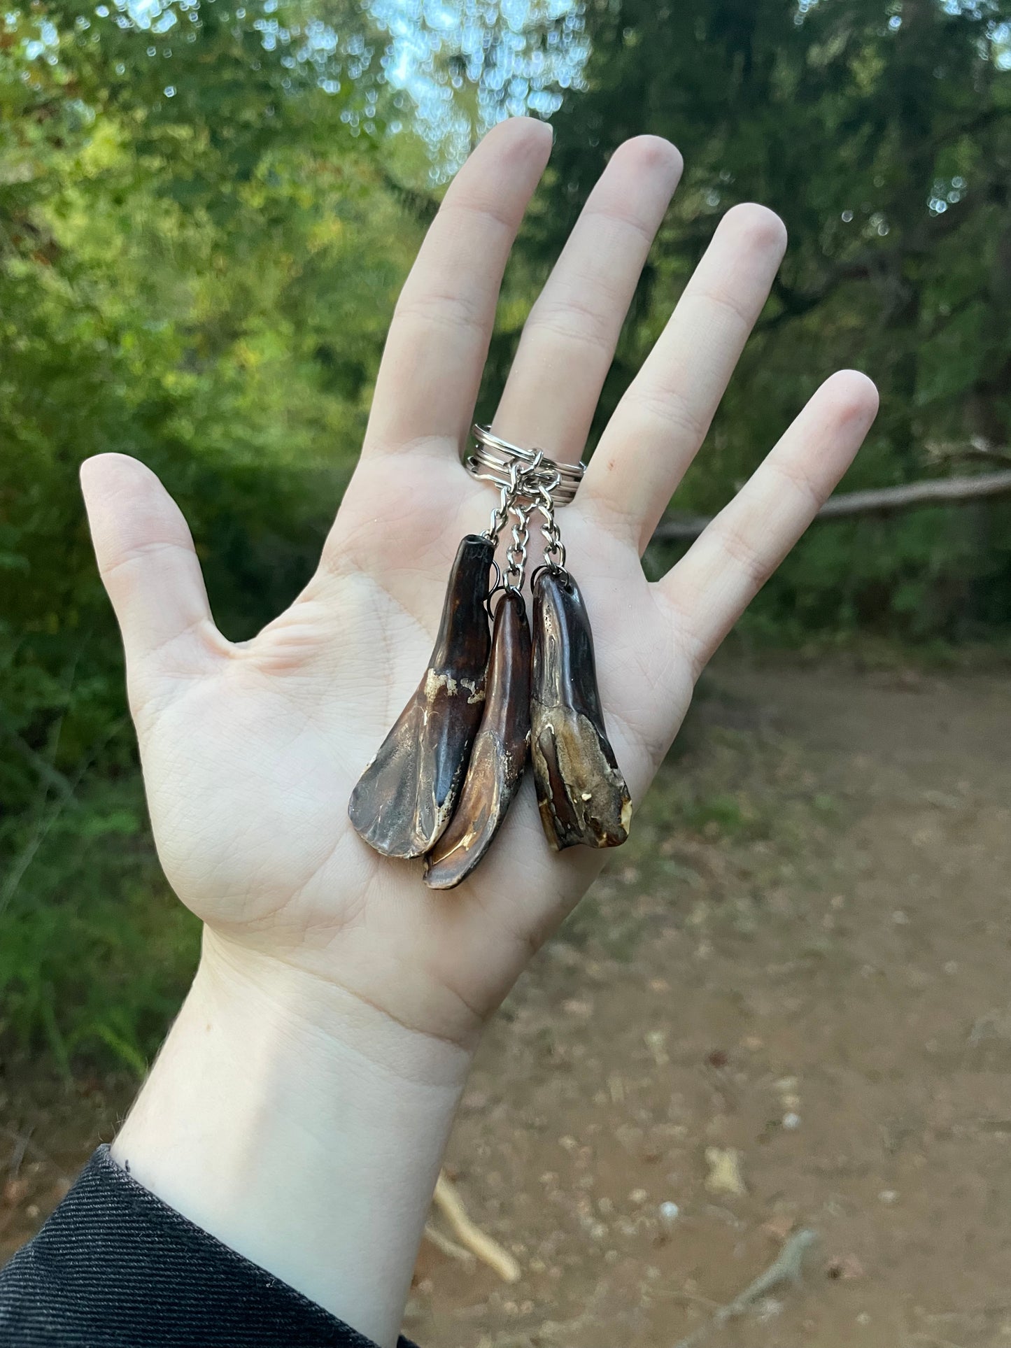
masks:
MULTIPOLYGON (((718 508, 838 365, 884 394, 848 485, 971 470, 1011 439, 1007 0, 531 0, 523 23, 457 0, 456 28, 406 7, 391 47, 395 8, 39 0, 0 22, 0 1035, 65 1066, 140 1070, 197 940, 148 837, 77 465, 148 462, 220 625, 253 634, 314 565, 430 185, 483 119, 573 90, 483 411, 608 154, 648 131, 687 168, 599 425, 723 212, 764 201, 791 232, 679 508, 718 508)), ((818 526, 747 621, 1002 636, 1010 523, 984 503, 818 526)), ((718 793, 683 807, 756 826, 718 793)))

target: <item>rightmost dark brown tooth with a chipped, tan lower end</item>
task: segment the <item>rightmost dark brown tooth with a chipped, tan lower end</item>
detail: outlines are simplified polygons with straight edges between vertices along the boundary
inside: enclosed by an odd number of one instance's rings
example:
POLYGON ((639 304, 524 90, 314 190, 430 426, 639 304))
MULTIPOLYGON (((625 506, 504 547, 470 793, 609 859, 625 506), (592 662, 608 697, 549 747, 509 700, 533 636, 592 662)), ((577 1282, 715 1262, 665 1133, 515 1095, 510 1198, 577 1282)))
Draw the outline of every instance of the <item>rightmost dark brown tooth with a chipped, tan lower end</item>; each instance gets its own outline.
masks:
POLYGON ((534 581, 530 756, 541 822, 562 851, 619 847, 632 802, 604 729, 593 632, 576 581, 542 570, 534 581))

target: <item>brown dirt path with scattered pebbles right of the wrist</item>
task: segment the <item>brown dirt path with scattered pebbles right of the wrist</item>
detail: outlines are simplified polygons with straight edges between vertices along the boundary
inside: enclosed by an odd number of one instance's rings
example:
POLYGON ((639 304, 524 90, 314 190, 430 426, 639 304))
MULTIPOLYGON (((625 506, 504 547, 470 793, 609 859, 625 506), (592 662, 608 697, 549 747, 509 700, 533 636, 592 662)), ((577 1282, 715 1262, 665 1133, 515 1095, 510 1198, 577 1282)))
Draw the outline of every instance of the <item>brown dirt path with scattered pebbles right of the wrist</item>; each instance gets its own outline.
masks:
MULTIPOLYGON (((709 677, 464 1101, 452 1173, 523 1278, 426 1244, 412 1337, 674 1348, 806 1227, 802 1285, 706 1344, 1011 1344, 1010 725, 996 675, 709 677)), ((0 1113, 36 1126, 8 1251, 115 1115, 46 1092, 0 1113)))

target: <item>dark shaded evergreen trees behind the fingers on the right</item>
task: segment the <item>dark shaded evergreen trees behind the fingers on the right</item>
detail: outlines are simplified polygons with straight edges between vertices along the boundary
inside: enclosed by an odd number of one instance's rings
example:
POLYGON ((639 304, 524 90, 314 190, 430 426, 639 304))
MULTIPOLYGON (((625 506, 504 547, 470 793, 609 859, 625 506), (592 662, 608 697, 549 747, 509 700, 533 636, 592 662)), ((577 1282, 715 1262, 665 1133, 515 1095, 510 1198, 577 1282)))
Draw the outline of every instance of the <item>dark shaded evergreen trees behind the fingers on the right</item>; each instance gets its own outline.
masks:
MULTIPOLYGON (((623 139, 669 136, 686 162, 599 426, 723 213, 760 201, 790 231, 678 508, 717 510, 816 384, 847 365, 883 396, 844 489, 1011 454, 1007 0, 593 0, 585 18, 588 88, 555 119, 549 190, 527 235, 534 274, 623 139)), ((496 350, 504 367, 511 344, 496 350)), ((979 636, 1011 619, 1006 520, 984 506, 818 526, 745 621, 790 636, 979 636)))

